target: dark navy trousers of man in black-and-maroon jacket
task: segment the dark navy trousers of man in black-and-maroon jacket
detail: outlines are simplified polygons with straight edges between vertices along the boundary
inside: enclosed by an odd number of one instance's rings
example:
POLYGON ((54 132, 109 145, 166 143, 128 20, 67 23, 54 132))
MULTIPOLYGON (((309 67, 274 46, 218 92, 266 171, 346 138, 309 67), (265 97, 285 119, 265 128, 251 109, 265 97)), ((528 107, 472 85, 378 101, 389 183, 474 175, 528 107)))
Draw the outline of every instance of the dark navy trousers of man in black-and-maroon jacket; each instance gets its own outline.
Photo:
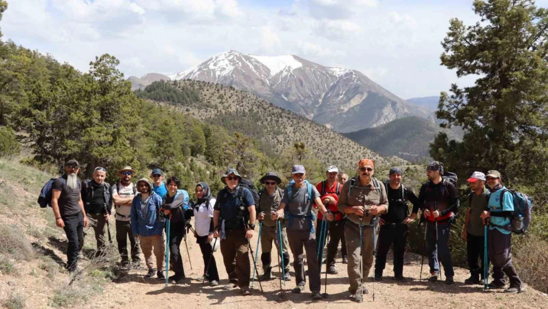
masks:
POLYGON ((439 273, 439 261, 442 262, 443 271, 446 278, 453 277, 453 262, 451 260, 451 251, 449 251, 449 223, 438 223, 438 241, 436 244, 436 226, 433 222, 426 223, 426 248, 428 250, 428 265, 430 273, 439 273), (439 259, 439 260, 438 260, 439 259))

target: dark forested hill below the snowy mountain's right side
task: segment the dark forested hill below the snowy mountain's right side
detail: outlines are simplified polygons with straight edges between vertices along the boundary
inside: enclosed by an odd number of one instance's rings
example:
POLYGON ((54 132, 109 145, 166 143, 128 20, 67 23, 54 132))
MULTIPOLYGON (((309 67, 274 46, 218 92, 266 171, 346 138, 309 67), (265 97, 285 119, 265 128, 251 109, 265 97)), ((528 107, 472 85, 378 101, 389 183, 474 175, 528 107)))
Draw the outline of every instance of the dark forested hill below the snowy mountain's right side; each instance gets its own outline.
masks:
POLYGON ((380 155, 419 161, 429 158, 429 144, 441 131, 446 132, 449 139, 461 138, 454 130, 440 128, 430 120, 415 116, 343 135, 380 155))

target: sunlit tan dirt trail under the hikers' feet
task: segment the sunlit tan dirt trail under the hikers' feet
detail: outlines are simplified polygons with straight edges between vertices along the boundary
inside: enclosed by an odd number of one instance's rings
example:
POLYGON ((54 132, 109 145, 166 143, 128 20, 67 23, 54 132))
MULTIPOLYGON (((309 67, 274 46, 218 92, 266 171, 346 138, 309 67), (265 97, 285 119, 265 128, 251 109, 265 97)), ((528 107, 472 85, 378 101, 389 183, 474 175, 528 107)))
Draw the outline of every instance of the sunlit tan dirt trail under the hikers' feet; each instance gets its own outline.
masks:
MULTIPOLYGON (((348 279, 346 265, 341 263, 340 257, 336 260, 336 269, 339 274, 327 276, 327 299, 312 301, 309 285, 306 285, 302 294, 290 292, 295 286, 294 277, 283 287, 287 301, 278 300, 278 269, 277 266, 273 275, 274 280, 262 282, 264 293, 260 292, 258 281, 255 278, 252 296, 241 296, 239 289, 226 291, 222 285, 227 283, 227 274, 222 264, 220 252, 215 253, 221 282, 219 286, 212 288, 204 284, 201 295, 198 295, 201 282, 196 278, 202 275, 204 266, 199 246, 195 239, 188 240, 190 256, 192 259, 193 271, 190 269, 189 260, 186 255, 184 243, 181 243, 181 252, 184 254, 183 263, 185 274, 191 279, 186 279, 185 284, 164 286, 164 281, 155 279, 144 279, 142 276, 145 270, 130 271, 126 276, 116 282, 110 283, 105 288, 105 293, 96 299, 89 301, 84 308, 197 308, 209 306, 229 306, 231 308, 424 308, 439 307, 447 308, 548 308, 548 297, 539 291, 528 288, 526 293, 507 295, 502 290, 482 291, 481 285, 464 285, 464 279, 469 276, 466 269, 455 268, 455 284, 448 286, 443 282, 430 283, 424 278, 428 276, 428 266, 425 262, 423 282, 419 282, 420 257, 414 254, 406 254, 406 265, 404 276, 408 282, 399 283, 393 279, 391 259, 385 269, 385 277, 382 282, 375 284, 375 302, 372 301, 373 284, 368 279, 367 286, 370 290, 364 295, 362 304, 357 304, 349 299, 348 279)), ((256 235, 252 239, 253 250, 255 250, 256 235)), ((272 256, 273 261, 276 255, 272 256)), ((291 259, 293 261, 293 257, 291 259)), ((252 264, 253 268, 253 264, 252 264)), ((262 273, 260 259, 258 268, 262 273)), ((325 271, 325 265, 323 266, 325 271)), ((253 272, 253 269, 252 269, 253 272)), ((291 268, 293 276, 293 267, 291 268)), ((325 273, 322 272, 322 293, 324 289, 325 273)), ((283 286, 283 285, 282 285, 283 286)))

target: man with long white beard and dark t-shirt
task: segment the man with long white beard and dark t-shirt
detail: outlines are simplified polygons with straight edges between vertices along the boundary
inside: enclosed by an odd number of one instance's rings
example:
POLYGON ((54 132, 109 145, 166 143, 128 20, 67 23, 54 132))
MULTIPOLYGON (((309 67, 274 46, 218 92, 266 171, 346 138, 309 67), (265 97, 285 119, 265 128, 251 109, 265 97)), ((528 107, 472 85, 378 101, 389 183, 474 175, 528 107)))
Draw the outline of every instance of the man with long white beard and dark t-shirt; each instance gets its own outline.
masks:
POLYGON ((69 272, 75 272, 78 264, 78 253, 83 243, 84 227, 88 225, 84 203, 80 195, 81 184, 77 174, 80 165, 76 160, 65 164, 65 175, 55 179, 52 188, 52 209, 55 224, 63 228, 68 239, 67 266, 69 272))

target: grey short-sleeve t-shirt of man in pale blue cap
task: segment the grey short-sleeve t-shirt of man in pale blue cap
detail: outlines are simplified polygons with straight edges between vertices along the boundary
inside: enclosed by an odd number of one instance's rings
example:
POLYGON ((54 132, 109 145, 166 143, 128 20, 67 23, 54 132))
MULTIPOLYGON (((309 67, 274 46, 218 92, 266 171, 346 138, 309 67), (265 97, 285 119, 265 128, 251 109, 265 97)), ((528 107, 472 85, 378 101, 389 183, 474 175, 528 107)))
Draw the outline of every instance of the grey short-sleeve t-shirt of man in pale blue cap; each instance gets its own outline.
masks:
MULTIPOLYGON (((286 204, 285 211, 289 211, 289 213, 293 216, 306 216, 311 214, 312 212, 312 206, 314 204, 314 200, 316 198, 319 198, 321 195, 318 192, 318 189, 316 187, 312 186, 312 193, 310 196, 310 200, 306 198, 307 194, 307 188, 306 184, 302 185, 300 188, 296 188, 295 185, 293 185, 292 190, 292 196, 291 201, 288 199, 288 189, 286 188, 283 191, 283 198, 282 202, 283 204, 286 204)), ((289 220, 286 220, 286 226, 287 229, 301 229, 305 231, 311 230, 311 220, 309 218, 289 218, 289 220)))

